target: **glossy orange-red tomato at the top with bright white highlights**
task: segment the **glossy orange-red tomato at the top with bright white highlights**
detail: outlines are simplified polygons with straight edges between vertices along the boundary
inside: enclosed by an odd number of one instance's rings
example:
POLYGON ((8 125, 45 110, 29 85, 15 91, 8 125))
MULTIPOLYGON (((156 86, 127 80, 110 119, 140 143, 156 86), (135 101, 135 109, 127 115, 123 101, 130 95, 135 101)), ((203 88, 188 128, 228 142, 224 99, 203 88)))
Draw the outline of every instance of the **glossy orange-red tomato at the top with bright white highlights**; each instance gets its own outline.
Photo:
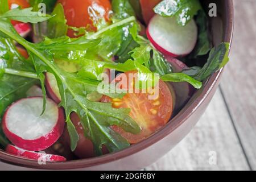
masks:
MULTIPOLYGON (((96 31, 94 22, 105 18, 109 21, 112 12, 109 0, 58 0, 64 7, 67 24, 72 27, 88 27, 96 31)), ((73 31, 68 31, 68 36, 73 37, 73 31)))

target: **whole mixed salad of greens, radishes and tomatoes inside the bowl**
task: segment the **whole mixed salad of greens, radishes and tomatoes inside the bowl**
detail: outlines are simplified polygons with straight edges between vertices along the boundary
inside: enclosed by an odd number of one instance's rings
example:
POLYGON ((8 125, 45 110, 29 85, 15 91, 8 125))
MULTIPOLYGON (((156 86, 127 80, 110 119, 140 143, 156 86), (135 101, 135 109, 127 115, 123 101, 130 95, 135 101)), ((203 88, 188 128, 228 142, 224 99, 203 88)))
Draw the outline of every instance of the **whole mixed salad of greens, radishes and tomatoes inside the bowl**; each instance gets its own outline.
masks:
POLYGON ((139 144, 228 51, 199 0, 1 0, 0 146, 57 163, 139 144))

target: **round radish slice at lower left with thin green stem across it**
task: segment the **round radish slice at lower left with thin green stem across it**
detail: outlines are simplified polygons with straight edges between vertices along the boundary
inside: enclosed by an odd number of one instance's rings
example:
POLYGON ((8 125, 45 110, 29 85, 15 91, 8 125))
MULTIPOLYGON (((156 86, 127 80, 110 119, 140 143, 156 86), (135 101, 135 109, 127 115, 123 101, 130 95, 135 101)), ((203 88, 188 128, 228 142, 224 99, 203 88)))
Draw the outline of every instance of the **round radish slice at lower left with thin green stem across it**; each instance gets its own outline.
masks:
POLYGON ((42 113, 43 97, 23 98, 11 105, 3 115, 3 132, 19 148, 42 151, 60 138, 65 120, 63 109, 47 98, 42 113))

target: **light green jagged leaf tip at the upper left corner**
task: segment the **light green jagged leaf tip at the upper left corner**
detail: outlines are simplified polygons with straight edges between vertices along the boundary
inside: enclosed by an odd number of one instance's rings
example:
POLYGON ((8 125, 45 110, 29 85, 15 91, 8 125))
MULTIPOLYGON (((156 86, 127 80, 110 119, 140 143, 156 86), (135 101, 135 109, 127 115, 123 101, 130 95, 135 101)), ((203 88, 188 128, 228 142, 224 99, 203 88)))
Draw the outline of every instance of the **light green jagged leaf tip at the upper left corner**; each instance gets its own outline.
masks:
POLYGON ((52 16, 50 15, 45 15, 45 16, 39 15, 38 12, 32 11, 32 7, 29 7, 27 9, 15 8, 0 15, 0 18, 9 18, 9 19, 17 20, 23 23, 44 22, 50 19, 51 17, 52 16))

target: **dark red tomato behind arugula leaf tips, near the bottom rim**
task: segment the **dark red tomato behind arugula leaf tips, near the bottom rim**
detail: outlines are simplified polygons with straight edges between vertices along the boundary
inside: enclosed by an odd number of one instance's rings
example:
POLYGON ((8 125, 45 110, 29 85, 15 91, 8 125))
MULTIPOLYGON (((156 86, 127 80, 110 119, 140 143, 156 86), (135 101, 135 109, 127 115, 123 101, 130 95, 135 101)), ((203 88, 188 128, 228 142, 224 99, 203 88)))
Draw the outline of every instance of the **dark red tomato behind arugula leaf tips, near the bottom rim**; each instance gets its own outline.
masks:
MULTIPOLYGON (((74 151, 75 155, 81 159, 92 158, 96 156, 94 154, 93 143, 91 140, 89 140, 84 136, 84 129, 82 128, 80 118, 76 113, 71 113, 71 121, 76 127, 77 133, 79 134, 79 142, 77 143, 76 150, 74 151)), ((70 139, 69 139, 69 134, 67 129, 65 129, 63 133, 63 137, 61 138, 61 143, 68 146, 70 145, 69 144, 70 139)), ((104 145, 102 145, 102 153, 103 154, 109 153, 108 149, 104 145)))

